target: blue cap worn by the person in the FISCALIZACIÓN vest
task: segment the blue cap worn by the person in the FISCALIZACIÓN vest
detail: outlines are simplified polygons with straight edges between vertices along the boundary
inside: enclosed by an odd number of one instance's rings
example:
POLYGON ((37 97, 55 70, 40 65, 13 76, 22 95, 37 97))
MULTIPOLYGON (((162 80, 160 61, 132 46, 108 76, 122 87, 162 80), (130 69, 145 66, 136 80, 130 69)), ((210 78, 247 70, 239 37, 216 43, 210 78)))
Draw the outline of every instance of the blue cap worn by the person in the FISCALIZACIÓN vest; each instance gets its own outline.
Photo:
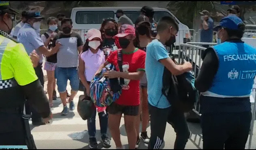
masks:
POLYGON ((227 17, 222 18, 219 25, 214 27, 213 30, 218 31, 222 27, 230 30, 239 30, 239 25, 241 23, 243 23, 243 21, 236 15, 228 15, 227 17))

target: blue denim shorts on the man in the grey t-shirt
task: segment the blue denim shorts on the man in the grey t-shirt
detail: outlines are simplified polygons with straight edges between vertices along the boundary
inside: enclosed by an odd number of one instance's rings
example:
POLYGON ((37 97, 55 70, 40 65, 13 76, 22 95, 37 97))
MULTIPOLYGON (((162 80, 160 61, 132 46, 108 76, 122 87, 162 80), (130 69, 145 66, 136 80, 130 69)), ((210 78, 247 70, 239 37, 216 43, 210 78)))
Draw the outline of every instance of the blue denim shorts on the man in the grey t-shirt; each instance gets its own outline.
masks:
POLYGON ((78 91, 79 89, 79 76, 78 70, 76 67, 71 68, 60 68, 56 67, 56 77, 57 77, 57 86, 59 93, 66 92, 67 90, 67 81, 70 81, 70 86, 73 91, 78 91))

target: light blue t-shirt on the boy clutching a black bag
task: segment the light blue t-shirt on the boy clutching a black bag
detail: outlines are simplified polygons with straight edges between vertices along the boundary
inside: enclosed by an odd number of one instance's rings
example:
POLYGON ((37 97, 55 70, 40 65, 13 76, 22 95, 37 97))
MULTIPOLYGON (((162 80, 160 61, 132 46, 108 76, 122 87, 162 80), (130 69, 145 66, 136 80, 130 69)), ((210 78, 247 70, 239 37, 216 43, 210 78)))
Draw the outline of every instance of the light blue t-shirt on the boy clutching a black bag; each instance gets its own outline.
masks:
POLYGON ((159 60, 166 58, 169 58, 168 52, 157 39, 146 47, 145 72, 148 80, 148 103, 162 109, 171 106, 162 94, 164 65, 159 60))

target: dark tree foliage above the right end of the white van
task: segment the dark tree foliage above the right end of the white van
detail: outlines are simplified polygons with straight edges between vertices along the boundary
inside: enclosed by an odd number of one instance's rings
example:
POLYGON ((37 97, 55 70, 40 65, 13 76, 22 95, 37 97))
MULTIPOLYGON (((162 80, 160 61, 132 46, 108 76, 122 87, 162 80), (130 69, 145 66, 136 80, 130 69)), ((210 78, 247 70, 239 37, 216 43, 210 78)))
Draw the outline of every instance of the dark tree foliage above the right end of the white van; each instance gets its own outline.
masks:
POLYGON ((188 25, 189 28, 193 27, 194 18, 202 10, 216 11, 213 1, 176 1, 169 2, 167 7, 172 11, 181 22, 188 25))

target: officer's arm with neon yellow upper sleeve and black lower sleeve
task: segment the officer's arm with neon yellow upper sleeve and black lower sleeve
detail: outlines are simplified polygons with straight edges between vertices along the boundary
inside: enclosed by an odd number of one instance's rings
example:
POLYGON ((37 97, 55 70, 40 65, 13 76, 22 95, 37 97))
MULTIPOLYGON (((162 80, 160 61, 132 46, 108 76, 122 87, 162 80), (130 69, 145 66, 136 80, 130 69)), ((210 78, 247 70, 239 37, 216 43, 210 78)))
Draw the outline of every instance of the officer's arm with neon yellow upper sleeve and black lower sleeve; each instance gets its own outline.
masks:
POLYGON ((14 46, 12 56, 11 66, 15 80, 24 90, 28 102, 43 118, 48 118, 51 114, 49 101, 34 72, 30 57, 21 43, 14 46))

